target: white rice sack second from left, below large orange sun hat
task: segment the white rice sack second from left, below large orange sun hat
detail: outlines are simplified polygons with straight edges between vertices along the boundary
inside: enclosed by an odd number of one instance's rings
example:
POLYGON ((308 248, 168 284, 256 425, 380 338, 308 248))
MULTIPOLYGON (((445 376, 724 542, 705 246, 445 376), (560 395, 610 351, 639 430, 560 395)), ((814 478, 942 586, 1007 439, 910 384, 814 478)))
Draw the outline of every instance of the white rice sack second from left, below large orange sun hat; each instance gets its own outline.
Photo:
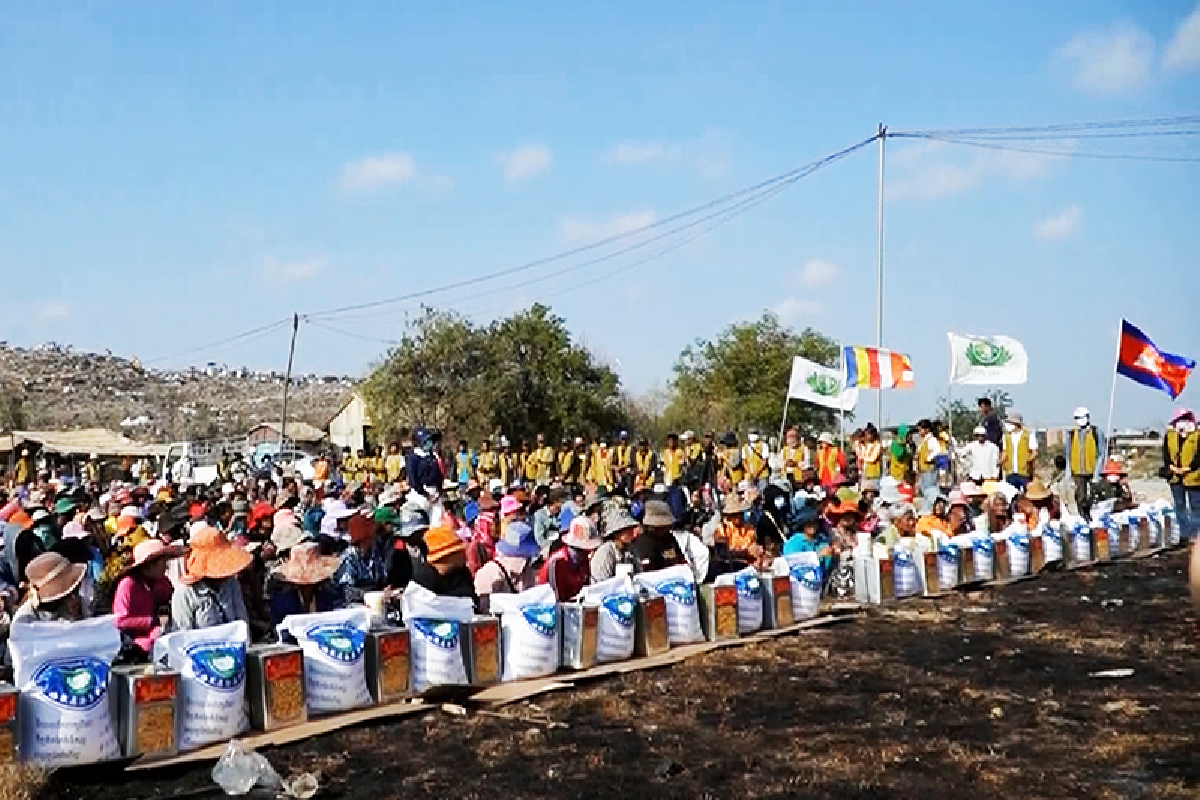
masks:
POLYGON ((180 750, 233 739, 246 716, 246 646, 250 627, 229 622, 176 631, 154 643, 154 660, 180 674, 180 750))

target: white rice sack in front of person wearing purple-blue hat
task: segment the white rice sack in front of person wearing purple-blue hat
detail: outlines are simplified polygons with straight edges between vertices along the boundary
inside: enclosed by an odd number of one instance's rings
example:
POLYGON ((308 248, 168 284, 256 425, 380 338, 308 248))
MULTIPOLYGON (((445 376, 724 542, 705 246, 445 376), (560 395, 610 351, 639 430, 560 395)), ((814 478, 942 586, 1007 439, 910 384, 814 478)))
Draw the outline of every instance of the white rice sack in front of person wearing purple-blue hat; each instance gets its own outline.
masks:
POLYGON ((541 678, 558 670, 562 625, 554 588, 542 584, 521 594, 494 594, 491 610, 500 616, 500 680, 541 678))

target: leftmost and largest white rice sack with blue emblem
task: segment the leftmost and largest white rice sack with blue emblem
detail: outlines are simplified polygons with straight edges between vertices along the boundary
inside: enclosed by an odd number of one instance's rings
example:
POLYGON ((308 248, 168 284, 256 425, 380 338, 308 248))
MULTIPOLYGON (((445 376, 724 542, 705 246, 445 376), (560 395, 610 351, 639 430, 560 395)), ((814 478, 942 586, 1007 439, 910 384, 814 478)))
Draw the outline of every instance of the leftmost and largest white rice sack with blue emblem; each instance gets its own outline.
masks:
POLYGON ((20 688, 20 757, 42 768, 120 758, 108 674, 121 650, 116 618, 14 622, 8 632, 20 688))

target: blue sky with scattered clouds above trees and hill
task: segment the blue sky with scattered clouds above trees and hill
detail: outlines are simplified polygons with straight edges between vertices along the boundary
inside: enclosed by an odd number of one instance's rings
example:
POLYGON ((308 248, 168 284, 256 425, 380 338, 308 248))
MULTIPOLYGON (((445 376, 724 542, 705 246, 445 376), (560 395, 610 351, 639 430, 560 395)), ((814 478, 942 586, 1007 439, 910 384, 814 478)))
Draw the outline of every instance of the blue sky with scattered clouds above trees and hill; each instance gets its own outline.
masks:
MULTIPOLYGON (((878 121, 1200 113, 1200 5, 7 4, 0 109, 11 343, 282 369, 282 330, 176 354, 661 219, 878 121)), ((1187 137, 1104 146, 1200 156, 1187 137)), ((887 148, 884 338, 917 373, 888 419, 944 393, 948 330, 1026 343, 1012 393, 1040 423, 1104 416, 1122 315, 1200 356, 1200 164, 887 148)), ((638 393, 764 308, 871 344, 876 157, 608 279, 637 254, 430 302, 480 320, 548 302, 638 393)), ((389 339, 414 309, 329 324, 389 339)), ((360 374, 384 348, 305 325, 296 368, 360 374)), ((1118 385, 1118 425, 1169 408, 1118 385)))

